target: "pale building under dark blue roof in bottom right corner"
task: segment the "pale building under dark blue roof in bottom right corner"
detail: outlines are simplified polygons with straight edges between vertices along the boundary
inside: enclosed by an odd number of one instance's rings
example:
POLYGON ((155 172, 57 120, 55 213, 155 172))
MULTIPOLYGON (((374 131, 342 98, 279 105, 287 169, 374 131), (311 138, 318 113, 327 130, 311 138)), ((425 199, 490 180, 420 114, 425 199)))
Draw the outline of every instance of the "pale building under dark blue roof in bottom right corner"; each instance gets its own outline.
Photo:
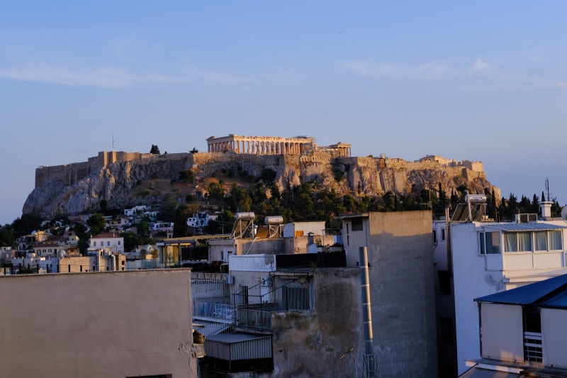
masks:
POLYGON ((475 301, 480 349, 461 377, 567 377, 567 274, 475 301))

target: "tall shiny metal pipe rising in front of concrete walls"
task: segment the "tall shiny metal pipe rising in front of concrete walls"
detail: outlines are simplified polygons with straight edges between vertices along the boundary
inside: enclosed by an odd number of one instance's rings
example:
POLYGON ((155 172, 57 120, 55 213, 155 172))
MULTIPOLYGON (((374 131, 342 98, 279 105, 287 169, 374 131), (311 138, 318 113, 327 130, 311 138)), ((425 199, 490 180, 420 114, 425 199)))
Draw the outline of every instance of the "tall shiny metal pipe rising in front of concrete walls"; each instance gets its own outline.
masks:
POLYGON ((372 313, 370 304, 370 279, 368 274, 368 250, 359 248, 360 283, 362 294, 362 321, 364 323, 364 372, 365 377, 374 378, 374 343, 372 341, 372 313))

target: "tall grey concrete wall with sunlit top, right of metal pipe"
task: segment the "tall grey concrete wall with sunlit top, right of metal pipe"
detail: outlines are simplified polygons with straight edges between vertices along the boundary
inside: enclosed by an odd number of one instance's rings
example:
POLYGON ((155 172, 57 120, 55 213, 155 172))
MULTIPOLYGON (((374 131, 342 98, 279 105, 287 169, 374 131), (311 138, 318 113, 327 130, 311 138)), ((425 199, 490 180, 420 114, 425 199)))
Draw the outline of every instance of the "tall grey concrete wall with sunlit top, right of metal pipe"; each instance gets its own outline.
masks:
POLYGON ((431 211, 343 219, 347 265, 369 253, 374 353, 382 378, 437 377, 431 211), (347 224, 349 227, 347 241, 347 224))

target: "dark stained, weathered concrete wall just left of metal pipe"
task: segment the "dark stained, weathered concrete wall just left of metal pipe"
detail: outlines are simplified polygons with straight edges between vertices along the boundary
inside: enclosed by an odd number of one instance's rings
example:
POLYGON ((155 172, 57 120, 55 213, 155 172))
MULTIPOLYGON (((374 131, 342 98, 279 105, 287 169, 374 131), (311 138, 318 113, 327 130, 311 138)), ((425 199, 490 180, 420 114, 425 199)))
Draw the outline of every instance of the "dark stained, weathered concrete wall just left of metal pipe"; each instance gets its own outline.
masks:
POLYGON ((364 338, 359 269, 315 269, 313 285, 314 310, 272 314, 274 377, 357 377, 364 338))

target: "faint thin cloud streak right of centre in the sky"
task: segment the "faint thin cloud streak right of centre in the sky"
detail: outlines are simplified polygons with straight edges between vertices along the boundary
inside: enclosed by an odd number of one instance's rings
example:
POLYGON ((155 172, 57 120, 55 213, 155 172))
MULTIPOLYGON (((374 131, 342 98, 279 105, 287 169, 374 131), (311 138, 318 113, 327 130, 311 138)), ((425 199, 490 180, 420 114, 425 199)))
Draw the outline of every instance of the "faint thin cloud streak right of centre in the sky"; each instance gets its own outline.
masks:
POLYGON ((367 77, 389 79, 437 80, 449 76, 447 65, 372 65, 368 62, 345 62, 344 67, 367 77))

